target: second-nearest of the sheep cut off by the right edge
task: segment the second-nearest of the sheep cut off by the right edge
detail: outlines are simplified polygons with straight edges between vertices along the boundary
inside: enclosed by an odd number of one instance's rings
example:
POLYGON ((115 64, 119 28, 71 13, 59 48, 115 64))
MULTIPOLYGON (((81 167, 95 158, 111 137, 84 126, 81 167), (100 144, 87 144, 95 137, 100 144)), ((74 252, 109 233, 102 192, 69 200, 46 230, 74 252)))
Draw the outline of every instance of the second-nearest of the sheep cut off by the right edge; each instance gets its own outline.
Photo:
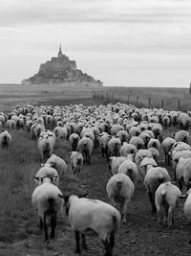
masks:
POLYGON ((187 190, 191 188, 191 157, 179 158, 176 168, 176 177, 180 184, 180 191, 182 190, 183 183, 186 185, 187 190))

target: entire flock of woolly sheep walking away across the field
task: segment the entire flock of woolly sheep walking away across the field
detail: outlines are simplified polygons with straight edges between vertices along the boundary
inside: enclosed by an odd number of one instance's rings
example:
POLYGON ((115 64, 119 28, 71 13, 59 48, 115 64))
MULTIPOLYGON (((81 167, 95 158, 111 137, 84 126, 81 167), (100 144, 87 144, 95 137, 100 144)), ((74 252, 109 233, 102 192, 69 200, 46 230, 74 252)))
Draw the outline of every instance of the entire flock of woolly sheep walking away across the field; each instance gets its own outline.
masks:
MULTIPOLYGON (((80 240, 87 249, 86 232, 92 230, 104 244, 105 255, 112 255, 115 234, 125 224, 128 203, 137 182, 142 182, 159 223, 171 226, 180 198, 186 198, 183 211, 191 221, 191 147, 187 131, 190 113, 163 109, 138 109, 134 105, 67 105, 39 107, 17 105, 8 115, 0 113, 2 149, 11 147, 11 129, 26 128, 37 141, 42 167, 36 175, 32 205, 37 211, 45 242, 54 238, 57 219, 64 214, 74 230, 75 252, 80 240), (163 137, 163 129, 173 126, 180 131, 163 137), (69 141, 70 165, 53 153, 56 139, 69 141), (83 165, 91 165, 91 155, 99 148, 106 159, 111 177, 106 186, 111 204, 85 198, 88 192, 67 194, 59 189, 65 175, 79 176, 83 165), (162 151, 161 151, 162 149, 162 151), (163 152, 165 162, 174 171, 159 166, 163 152), (179 187, 175 184, 178 183, 179 187), (185 187, 185 188, 184 188, 185 187), (186 189, 186 194, 182 194, 186 189), (51 226, 49 235, 48 227, 51 226)), ((190 241, 191 242, 191 241, 190 241)))

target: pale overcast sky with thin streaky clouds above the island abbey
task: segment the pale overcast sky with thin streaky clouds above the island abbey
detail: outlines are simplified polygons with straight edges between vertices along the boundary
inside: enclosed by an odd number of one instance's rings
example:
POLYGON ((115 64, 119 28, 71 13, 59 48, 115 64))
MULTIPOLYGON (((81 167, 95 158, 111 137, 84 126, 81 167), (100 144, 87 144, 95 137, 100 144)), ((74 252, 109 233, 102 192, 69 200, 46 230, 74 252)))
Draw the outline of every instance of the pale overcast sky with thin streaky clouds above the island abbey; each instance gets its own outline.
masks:
POLYGON ((105 86, 189 87, 190 0, 0 0, 0 83, 62 53, 105 86))

